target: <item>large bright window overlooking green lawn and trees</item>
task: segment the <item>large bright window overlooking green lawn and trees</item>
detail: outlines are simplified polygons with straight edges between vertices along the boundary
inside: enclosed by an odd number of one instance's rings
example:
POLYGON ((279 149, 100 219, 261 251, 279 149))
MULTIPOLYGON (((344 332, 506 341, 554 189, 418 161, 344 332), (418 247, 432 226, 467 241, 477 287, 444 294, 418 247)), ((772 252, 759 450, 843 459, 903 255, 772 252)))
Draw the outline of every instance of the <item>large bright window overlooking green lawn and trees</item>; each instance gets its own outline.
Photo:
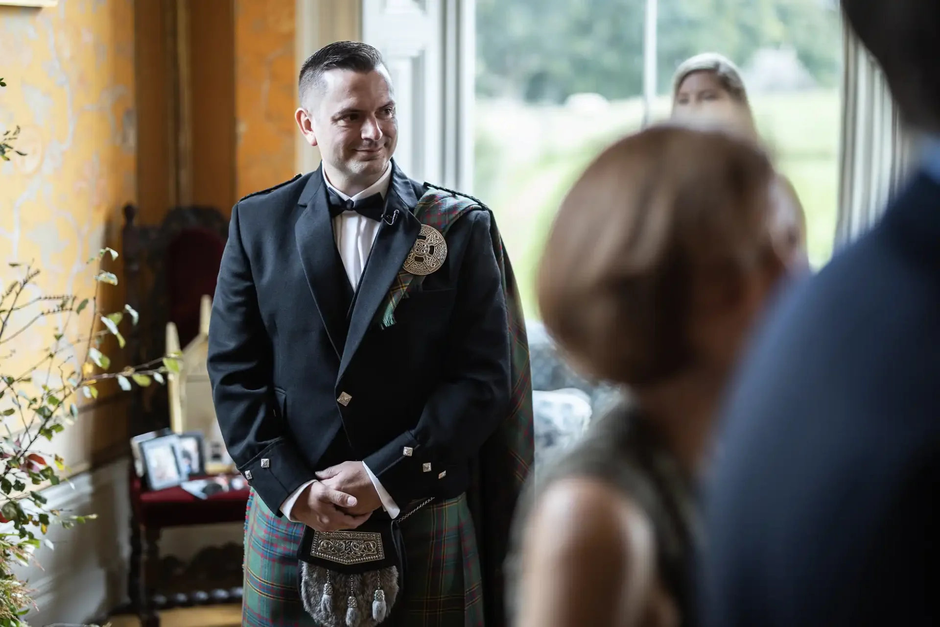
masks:
POLYGON ((537 318, 533 283, 556 208, 587 163, 640 128, 644 3, 656 5, 656 97, 714 51, 741 67, 760 133, 807 211, 810 259, 831 255, 838 199, 840 19, 831 0, 477 0, 475 194, 495 212, 537 318))

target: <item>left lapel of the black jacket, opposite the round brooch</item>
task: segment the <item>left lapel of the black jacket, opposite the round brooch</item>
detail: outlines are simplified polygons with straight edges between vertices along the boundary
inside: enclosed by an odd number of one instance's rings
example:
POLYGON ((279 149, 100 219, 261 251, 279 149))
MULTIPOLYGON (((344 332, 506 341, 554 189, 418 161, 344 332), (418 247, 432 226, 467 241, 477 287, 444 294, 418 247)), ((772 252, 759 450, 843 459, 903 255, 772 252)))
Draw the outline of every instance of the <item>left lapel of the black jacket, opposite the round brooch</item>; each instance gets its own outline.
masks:
POLYGON ((294 236, 306 282, 317 303, 326 334, 339 357, 346 344, 347 312, 352 302, 352 286, 343 261, 339 259, 328 202, 323 174, 318 168, 307 180, 297 201, 305 209, 294 226, 294 236))

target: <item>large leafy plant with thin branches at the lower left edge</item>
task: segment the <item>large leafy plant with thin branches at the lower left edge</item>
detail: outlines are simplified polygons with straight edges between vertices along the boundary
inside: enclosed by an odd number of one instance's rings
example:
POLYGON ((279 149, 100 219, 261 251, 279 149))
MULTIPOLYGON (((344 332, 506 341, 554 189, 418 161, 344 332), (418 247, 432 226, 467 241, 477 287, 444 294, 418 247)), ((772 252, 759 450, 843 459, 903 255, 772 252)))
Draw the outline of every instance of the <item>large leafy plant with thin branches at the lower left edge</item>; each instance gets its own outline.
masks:
MULTIPOLYGON (((110 253, 112 259, 117 253, 102 249, 98 259, 110 253)), ((92 259, 93 261, 94 259, 92 259)), ((19 267, 18 264, 10 264, 19 267)), ((0 532, 0 627, 23 627, 24 623, 15 617, 22 616, 24 606, 32 603, 28 590, 9 569, 12 561, 29 563, 31 551, 40 545, 40 534, 45 535, 49 525, 60 524, 69 528, 83 523, 89 516, 66 515, 59 509, 48 507, 46 498, 40 493, 41 487, 48 481, 60 482, 57 472, 67 472, 65 460, 56 454, 40 450, 42 438, 52 440, 55 434, 64 431, 78 416, 76 395, 82 393, 86 398, 97 398, 101 382, 115 379, 122 390, 132 389, 132 382, 138 386, 147 386, 152 382, 164 384, 164 375, 179 372, 179 356, 166 355, 152 359, 144 364, 110 371, 111 359, 99 348, 102 340, 111 335, 123 348, 125 341, 121 335, 122 321, 130 318, 137 323, 138 314, 133 308, 124 306, 123 311, 104 314, 100 308, 100 283, 117 284, 114 274, 99 270, 95 275, 96 286, 90 299, 80 304, 71 294, 32 297, 24 302, 24 294, 40 274, 32 264, 24 266, 23 276, 13 281, 0 296, 0 345, 10 345, 23 337, 28 330, 35 330, 37 322, 53 315, 61 315, 60 324, 56 325, 55 340, 43 349, 41 357, 31 368, 19 376, 0 375, 0 399, 7 399, 11 408, 2 412, 3 417, 15 415, 23 425, 23 431, 14 436, 5 422, 8 438, 3 441, 3 453, 0 455, 0 523, 10 522, 13 532, 0 532), (40 310, 16 329, 13 312, 23 312, 31 307, 41 307, 43 303, 56 302, 56 306, 40 310), (90 306, 89 328, 86 335, 69 337, 72 324, 81 312, 90 306), (96 330, 96 326, 103 328, 96 330), (84 355, 80 353, 85 349, 84 355), (57 379, 54 381, 54 374, 57 379), (32 484, 30 489, 29 484, 32 484), (12 593, 11 590, 17 590, 12 593), (13 596, 10 596, 14 594, 13 596), (14 617, 6 620, 5 616, 14 617)), ((11 350, 3 359, 14 355, 11 350)), ((48 543, 48 541, 46 541, 48 543)))

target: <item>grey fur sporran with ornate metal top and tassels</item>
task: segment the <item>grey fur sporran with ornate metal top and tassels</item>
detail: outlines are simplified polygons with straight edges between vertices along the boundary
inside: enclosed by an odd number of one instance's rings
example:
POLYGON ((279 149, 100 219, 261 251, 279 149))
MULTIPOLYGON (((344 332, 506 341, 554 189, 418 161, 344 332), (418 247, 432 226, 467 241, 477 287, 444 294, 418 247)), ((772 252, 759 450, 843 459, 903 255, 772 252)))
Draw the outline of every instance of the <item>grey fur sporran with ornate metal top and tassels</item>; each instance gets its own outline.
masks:
POLYGON ((392 521, 376 517, 348 531, 304 530, 300 597, 323 627, 374 627, 399 598, 405 571, 399 525, 427 499, 392 521))

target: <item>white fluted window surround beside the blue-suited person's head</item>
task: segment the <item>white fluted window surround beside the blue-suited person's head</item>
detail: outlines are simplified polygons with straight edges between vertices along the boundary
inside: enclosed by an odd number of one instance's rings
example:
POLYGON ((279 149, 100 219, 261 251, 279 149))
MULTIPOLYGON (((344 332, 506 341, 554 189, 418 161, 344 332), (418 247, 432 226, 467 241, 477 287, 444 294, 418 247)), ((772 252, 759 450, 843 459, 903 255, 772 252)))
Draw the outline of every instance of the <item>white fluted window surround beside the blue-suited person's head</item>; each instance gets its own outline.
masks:
POLYGON ((838 247, 877 222, 917 153, 877 62, 848 24, 843 32, 838 247))

